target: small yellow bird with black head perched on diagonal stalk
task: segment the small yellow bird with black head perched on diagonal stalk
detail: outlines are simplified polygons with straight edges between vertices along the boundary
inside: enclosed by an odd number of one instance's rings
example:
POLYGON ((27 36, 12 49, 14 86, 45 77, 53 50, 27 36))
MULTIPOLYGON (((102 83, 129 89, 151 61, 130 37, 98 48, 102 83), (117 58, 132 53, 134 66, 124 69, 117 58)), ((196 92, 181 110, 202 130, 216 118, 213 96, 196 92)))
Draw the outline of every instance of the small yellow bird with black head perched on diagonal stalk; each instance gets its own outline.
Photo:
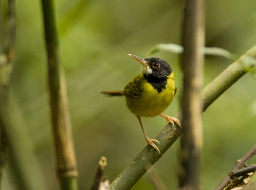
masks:
POLYGON ((101 93, 108 96, 125 96, 126 106, 137 116, 148 145, 154 147, 161 154, 154 143, 160 144, 160 142, 148 138, 141 117, 160 115, 167 120, 167 124, 172 123, 174 125, 175 122, 181 128, 180 121, 177 118, 163 114, 177 93, 174 72, 168 62, 162 58, 148 57, 142 59, 132 54, 128 56, 140 62, 142 73, 128 82, 123 91, 102 91, 101 93))

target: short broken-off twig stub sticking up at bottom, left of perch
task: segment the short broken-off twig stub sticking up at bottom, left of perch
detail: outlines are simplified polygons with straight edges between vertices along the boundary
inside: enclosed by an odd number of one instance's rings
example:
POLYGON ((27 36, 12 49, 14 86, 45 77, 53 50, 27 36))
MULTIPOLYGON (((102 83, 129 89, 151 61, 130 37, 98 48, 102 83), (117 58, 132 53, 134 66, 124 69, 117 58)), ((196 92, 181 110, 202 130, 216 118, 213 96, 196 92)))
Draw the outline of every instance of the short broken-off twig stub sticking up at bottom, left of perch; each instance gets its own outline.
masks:
MULTIPOLYGON (((92 188, 91 190, 98 190, 100 187, 100 179, 102 177, 103 171, 105 170, 105 167, 107 166, 107 158, 104 156, 101 156, 99 165, 95 174, 95 177, 93 179, 92 188)), ((104 184, 104 183, 103 183, 104 184)))

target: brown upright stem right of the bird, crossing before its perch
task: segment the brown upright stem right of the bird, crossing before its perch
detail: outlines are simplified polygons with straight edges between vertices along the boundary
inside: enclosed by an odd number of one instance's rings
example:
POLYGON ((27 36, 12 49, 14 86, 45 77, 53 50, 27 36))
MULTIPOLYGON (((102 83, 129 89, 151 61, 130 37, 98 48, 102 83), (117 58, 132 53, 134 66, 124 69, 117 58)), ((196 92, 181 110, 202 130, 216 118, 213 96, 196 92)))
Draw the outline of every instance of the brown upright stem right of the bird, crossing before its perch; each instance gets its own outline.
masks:
POLYGON ((186 0, 181 64, 184 72, 182 95, 181 189, 199 189, 202 147, 202 102, 200 90, 204 66, 204 0, 186 0))

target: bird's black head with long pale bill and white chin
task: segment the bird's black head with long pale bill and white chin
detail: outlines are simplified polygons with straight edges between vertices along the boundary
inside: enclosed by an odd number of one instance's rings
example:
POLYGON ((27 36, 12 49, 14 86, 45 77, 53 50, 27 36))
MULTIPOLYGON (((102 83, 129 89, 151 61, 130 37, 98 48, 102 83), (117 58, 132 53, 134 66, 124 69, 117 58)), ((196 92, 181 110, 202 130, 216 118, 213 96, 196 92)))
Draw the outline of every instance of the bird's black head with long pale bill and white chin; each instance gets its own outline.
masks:
POLYGON ((172 73, 172 69, 168 62, 159 57, 148 57, 142 59, 132 54, 129 54, 128 56, 141 63, 142 73, 146 77, 164 78, 172 73))

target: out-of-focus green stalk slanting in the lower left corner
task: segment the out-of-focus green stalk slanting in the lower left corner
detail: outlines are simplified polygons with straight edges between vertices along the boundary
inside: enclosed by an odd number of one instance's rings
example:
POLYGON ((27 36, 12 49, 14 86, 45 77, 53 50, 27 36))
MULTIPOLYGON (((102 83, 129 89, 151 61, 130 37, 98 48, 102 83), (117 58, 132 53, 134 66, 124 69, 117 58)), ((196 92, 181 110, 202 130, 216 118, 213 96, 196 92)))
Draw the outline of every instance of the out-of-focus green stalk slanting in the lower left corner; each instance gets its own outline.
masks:
MULTIPOLYGON (((8 166, 17 189, 46 190, 46 183, 31 141, 21 116, 20 109, 14 107, 13 97, 8 114, 4 118, 5 134, 8 140, 8 166), (13 121, 14 120, 14 121, 13 121)), ((2 187, 4 189, 4 187, 2 187)))

